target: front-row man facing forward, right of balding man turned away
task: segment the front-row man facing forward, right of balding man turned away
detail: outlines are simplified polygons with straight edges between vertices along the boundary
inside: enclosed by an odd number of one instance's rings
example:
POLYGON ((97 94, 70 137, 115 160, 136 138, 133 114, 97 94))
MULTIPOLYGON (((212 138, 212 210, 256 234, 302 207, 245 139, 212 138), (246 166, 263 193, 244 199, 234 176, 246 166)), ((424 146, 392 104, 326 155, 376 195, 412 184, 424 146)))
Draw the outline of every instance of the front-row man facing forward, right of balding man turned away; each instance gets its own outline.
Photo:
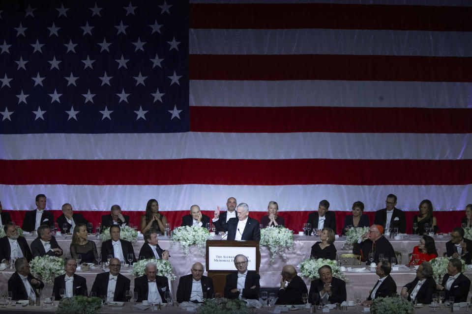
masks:
MULTIPOLYGON (((308 293, 308 302, 313 304, 312 295, 317 293, 321 298, 327 298, 330 304, 343 303, 346 301, 346 282, 333 277, 333 271, 330 266, 323 265, 318 268, 320 279, 311 282, 310 293, 308 293)), ((316 304, 319 304, 317 302, 316 304)))

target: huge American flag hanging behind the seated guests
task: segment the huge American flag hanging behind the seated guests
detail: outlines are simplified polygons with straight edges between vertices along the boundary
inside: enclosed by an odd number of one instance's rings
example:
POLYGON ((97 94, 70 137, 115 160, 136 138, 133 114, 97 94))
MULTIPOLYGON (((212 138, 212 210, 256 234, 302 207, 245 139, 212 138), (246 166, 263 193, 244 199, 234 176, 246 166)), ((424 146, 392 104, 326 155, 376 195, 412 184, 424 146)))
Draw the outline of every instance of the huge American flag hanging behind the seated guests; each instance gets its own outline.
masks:
POLYGON ((394 193, 457 225, 467 1, 225 2, 2 2, 3 208, 45 193, 50 209, 138 214, 156 198, 176 225, 234 196, 256 217, 277 201, 299 229, 322 199, 342 225, 394 193))

